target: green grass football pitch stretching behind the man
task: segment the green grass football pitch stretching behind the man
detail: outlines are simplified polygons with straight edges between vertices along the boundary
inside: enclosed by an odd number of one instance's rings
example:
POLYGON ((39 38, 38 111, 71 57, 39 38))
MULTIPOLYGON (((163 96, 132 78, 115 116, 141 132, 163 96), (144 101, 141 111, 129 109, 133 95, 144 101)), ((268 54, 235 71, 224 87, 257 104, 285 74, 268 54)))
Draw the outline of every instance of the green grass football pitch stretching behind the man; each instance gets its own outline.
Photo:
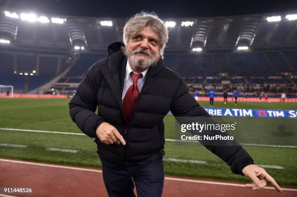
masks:
MULTIPOLYGON (((0 128, 31 129, 82 133, 69 117, 69 99, 0 99, 0 128)), ((199 102, 209 106, 208 102, 199 102)), ((240 102, 234 106, 215 102, 214 107, 260 108, 260 109, 297 109, 296 103, 256 103, 240 102)), ((216 121, 236 121, 240 125, 239 142, 252 144, 283 143, 294 145, 296 138, 271 137, 284 125, 285 131, 295 132, 296 119, 214 117, 216 121)), ((165 116, 165 138, 175 139, 175 119, 165 116)), ((297 135, 297 134, 295 134, 297 135)), ((16 158, 56 164, 84 167, 101 167, 96 153, 96 144, 87 136, 32 133, 0 130, 0 144, 26 145, 26 148, 0 146, 0 157, 16 158), (79 150, 77 153, 53 152, 47 148, 79 150)), ((296 145, 295 145, 296 146, 296 145)), ((265 168, 281 185, 297 186, 297 148, 244 146, 251 154, 255 164, 281 166, 283 169, 265 168)), ((165 173, 182 177, 210 178, 247 182, 241 175, 232 174, 230 167, 212 152, 198 145, 177 145, 166 141, 165 158, 202 160, 205 164, 177 163, 165 161, 165 173)))

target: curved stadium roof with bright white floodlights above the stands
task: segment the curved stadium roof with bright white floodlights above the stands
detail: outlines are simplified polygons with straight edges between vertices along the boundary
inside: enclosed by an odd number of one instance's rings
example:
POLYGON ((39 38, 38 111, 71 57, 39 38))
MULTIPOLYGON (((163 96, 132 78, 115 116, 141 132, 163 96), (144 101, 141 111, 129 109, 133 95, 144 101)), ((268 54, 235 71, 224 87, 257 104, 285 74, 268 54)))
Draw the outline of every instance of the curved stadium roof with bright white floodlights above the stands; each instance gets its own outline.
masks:
MULTIPOLYGON (((10 3, 17 1, 6 1, 6 3, 12 5, 10 3)), ((62 3, 67 0, 57 1, 62 3)), ((5 5, 4 1, 1 2, 0 5, 5 5)), ((74 4, 75 2, 73 1, 74 4)), ((73 8, 69 8, 71 9, 73 8)), ((15 48, 33 46, 65 52, 105 53, 108 45, 122 40, 122 30, 127 18, 127 16, 123 18, 67 16, 57 15, 55 12, 49 14, 34 12, 33 14, 32 10, 29 12, 26 9, 4 9, 3 7, 1 10, 0 43, 2 42, 2 45, 15 48)), ((122 10, 125 10, 125 7, 122 10)), ((110 12, 111 15, 113 13, 110 12)), ((171 53, 201 50, 232 52, 237 49, 256 51, 293 48, 296 50, 297 18, 295 17, 297 15, 294 14, 297 14, 297 9, 258 15, 163 17, 166 24, 175 25, 169 27, 166 50, 171 53), (288 15, 291 16, 288 17, 288 15)))

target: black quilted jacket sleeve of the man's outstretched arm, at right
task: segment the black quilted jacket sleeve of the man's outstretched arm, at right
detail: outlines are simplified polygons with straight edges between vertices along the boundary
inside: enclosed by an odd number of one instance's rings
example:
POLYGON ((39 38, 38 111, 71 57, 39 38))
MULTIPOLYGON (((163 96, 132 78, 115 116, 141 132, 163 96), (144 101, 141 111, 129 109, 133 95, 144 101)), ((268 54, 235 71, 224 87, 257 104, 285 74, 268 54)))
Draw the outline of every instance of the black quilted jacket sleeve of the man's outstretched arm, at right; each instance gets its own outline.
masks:
MULTIPOLYGON (((176 117, 210 117, 205 109, 199 106, 194 97, 187 92, 187 86, 182 79, 173 99, 171 112, 176 117)), ((231 166, 231 171, 234 174, 243 175, 242 169, 247 165, 254 164, 251 156, 240 144, 237 146, 205 147, 231 166)))

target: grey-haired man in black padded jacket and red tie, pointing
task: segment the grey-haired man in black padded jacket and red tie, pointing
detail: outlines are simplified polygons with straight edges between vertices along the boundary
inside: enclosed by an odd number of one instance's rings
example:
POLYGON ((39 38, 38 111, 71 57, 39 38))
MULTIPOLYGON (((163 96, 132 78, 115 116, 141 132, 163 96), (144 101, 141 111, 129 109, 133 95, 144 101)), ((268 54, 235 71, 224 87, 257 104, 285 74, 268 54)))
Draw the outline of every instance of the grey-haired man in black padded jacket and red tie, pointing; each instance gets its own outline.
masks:
MULTIPOLYGON (((168 40, 164 22, 141 12, 124 27, 123 43, 108 47, 108 58, 87 72, 69 102, 71 119, 95 137, 103 180, 110 197, 160 197, 164 184, 164 122, 169 110, 176 117, 210 117, 187 92, 187 86, 165 67, 168 40), (95 114, 98 106, 98 114, 95 114)), ((253 190, 272 182, 263 168, 253 165, 241 146, 206 146, 235 174, 246 175, 253 190)))

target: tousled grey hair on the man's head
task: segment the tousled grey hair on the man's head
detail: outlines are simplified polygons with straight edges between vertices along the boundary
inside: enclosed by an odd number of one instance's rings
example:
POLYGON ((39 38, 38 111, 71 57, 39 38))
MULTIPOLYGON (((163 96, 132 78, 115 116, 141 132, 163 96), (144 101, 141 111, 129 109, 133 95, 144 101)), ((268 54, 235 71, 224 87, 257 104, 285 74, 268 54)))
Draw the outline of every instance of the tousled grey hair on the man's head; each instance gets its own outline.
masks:
POLYGON ((133 15, 125 24, 123 33, 123 42, 127 46, 131 35, 141 32, 145 27, 151 27, 158 34, 160 40, 160 57, 163 59, 164 49, 168 41, 168 29, 163 20, 155 13, 147 13, 142 11, 133 15))

